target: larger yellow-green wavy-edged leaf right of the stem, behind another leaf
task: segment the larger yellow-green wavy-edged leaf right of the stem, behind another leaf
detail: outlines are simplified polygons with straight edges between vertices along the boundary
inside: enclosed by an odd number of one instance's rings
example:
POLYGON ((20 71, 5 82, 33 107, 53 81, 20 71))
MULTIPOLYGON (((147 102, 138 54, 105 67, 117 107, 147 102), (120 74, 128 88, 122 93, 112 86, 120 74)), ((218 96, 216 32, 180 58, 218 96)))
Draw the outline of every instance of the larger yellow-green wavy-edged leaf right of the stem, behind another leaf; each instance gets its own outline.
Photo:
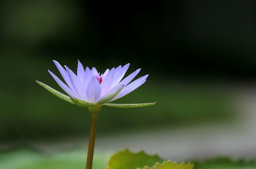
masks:
POLYGON ((156 162, 162 163, 164 160, 158 155, 147 155, 144 151, 132 153, 128 148, 120 150, 110 157, 106 169, 137 169, 144 166, 154 166, 156 162))

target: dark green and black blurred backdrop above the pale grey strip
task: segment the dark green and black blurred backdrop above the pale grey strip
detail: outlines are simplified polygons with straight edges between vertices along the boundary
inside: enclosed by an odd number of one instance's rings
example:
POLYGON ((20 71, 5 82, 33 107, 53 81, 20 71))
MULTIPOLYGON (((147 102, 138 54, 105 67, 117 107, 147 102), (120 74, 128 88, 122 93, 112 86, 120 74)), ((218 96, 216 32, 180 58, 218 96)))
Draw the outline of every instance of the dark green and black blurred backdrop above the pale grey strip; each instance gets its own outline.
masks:
POLYGON ((228 121, 229 89, 255 81, 255 37, 255 1, 2 1, 0 141, 88 136, 88 111, 34 82, 61 91, 52 60, 150 74, 117 102, 159 104, 104 107, 99 134, 228 121))

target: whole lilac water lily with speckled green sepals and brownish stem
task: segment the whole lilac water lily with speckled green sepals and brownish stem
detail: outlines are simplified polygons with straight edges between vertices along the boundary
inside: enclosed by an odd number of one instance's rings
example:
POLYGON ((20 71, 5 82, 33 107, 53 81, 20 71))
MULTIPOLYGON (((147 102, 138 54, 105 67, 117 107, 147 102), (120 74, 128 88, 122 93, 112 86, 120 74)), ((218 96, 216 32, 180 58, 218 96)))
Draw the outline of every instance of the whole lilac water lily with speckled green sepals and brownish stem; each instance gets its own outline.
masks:
POLYGON ((55 60, 53 60, 53 62, 66 84, 51 71, 48 70, 48 72, 69 96, 51 88, 50 86, 40 81, 36 80, 36 83, 46 88, 55 96, 69 103, 76 104, 80 107, 88 107, 89 111, 92 113, 92 124, 86 162, 86 168, 90 169, 92 168, 97 115, 103 105, 110 107, 131 108, 155 105, 158 102, 139 104, 110 103, 129 94, 146 82, 148 75, 144 75, 131 82, 141 69, 137 69, 123 79, 130 64, 126 64, 123 67, 118 66, 117 68, 113 67, 112 69, 106 69, 104 73, 100 74, 95 67, 92 67, 91 70, 86 67, 84 70, 84 67, 78 60, 76 75, 67 66, 64 66, 65 68, 63 68, 59 62, 55 60))

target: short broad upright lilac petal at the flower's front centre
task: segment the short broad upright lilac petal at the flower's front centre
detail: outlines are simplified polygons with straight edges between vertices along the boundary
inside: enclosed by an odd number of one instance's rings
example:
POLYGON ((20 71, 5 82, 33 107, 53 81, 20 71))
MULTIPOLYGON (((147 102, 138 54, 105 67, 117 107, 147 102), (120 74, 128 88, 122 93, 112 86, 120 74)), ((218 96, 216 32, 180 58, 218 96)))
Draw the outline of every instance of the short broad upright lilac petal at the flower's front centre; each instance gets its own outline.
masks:
POLYGON ((96 79, 96 77, 92 77, 90 82, 88 83, 87 89, 86 89, 86 95, 91 103, 96 103, 101 95, 101 88, 100 83, 96 79))

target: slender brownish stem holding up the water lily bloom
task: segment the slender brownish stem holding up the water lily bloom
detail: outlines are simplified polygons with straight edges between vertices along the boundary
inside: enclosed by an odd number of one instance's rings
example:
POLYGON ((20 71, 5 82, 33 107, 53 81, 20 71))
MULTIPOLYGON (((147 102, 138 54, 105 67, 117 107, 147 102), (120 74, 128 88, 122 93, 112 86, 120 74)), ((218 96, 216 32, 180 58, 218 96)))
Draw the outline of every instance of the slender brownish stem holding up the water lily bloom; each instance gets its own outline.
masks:
POLYGON ((98 113, 101 109, 101 106, 88 107, 88 109, 92 114, 92 122, 91 122, 90 139, 89 139, 88 153, 87 153, 87 160, 86 160, 86 169, 92 169, 97 117, 98 117, 98 113))

